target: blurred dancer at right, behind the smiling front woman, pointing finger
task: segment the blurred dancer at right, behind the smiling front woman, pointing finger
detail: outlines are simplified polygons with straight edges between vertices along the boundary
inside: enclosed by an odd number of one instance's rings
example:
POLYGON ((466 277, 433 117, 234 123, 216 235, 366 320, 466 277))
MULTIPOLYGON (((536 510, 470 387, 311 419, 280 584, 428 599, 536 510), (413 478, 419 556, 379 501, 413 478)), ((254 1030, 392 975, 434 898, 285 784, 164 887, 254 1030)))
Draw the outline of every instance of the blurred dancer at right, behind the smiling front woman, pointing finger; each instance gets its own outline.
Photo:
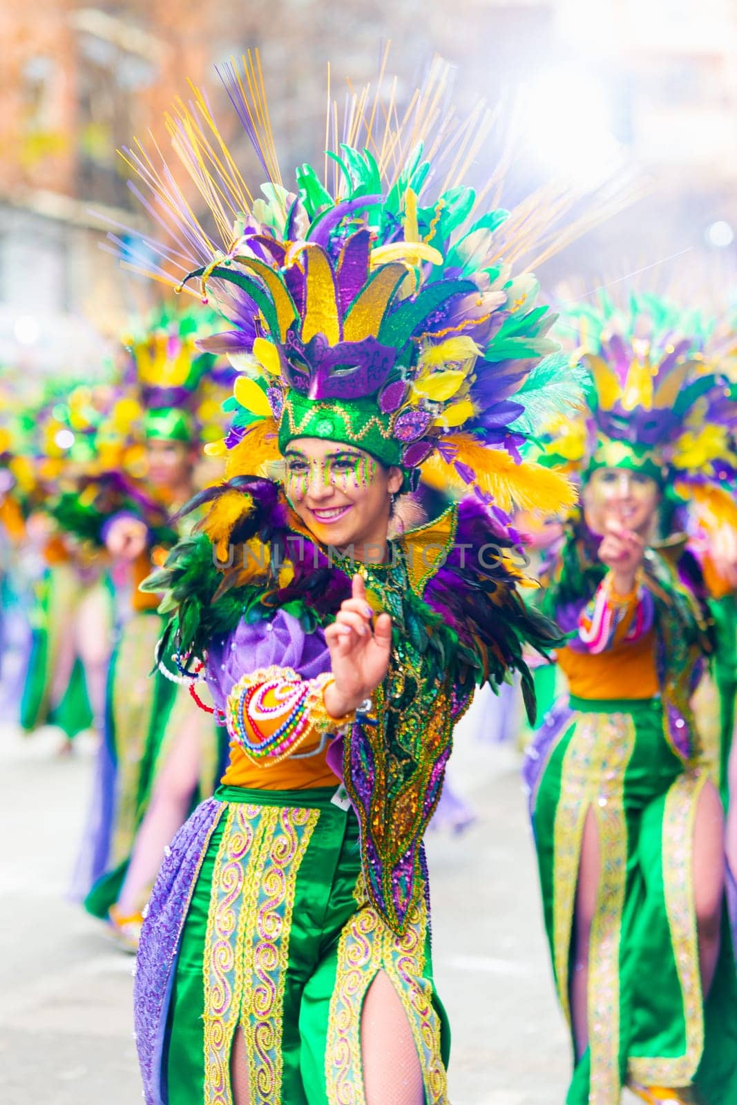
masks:
POLYGON ((564 319, 593 379, 586 423, 549 446, 559 463, 578 443, 582 481, 544 604, 573 633, 558 652, 570 698, 526 774, 575 1053, 566 1101, 612 1105, 627 1084, 718 1105, 737 1101, 737 976, 716 750, 689 707, 714 635, 670 527, 678 497, 734 463, 737 396, 653 298, 564 319))

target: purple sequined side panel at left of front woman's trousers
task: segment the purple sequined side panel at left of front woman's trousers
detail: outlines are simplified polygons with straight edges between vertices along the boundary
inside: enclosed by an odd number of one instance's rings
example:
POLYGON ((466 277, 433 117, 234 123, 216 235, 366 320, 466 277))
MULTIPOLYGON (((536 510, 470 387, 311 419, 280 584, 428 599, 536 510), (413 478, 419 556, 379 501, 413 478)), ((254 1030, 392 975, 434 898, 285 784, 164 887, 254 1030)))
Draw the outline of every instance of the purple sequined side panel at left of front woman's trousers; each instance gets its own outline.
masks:
POLYGON ((172 840, 151 892, 134 986, 136 1045, 146 1105, 166 1105, 161 1062, 179 939, 210 836, 224 809, 214 798, 198 806, 172 840))

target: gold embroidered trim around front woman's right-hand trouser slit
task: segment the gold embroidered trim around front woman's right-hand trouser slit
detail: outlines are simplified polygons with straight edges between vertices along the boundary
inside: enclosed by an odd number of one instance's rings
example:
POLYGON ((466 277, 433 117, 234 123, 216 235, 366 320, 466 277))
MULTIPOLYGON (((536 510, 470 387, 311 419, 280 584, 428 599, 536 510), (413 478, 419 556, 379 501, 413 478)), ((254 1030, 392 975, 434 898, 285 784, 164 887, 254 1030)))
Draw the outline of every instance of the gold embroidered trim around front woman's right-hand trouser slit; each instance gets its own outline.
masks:
POLYGON ((366 1105, 361 1009, 377 972, 383 970, 412 1029, 427 1105, 445 1105, 448 1080, 440 1050, 440 1018, 432 1003, 432 983, 423 977, 428 933, 424 898, 412 908, 404 935, 397 936, 367 904, 362 877, 359 877, 355 896, 360 908, 345 925, 338 943, 325 1051, 327 1097, 341 1105, 366 1105))

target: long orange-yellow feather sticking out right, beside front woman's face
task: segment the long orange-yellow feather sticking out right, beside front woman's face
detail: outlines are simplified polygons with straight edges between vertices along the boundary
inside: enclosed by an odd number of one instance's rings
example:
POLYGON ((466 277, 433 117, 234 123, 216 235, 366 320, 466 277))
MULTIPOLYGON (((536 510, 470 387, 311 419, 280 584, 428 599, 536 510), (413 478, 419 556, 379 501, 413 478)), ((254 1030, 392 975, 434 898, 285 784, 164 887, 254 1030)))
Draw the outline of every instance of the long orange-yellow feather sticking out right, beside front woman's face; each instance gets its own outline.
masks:
MULTIPOLYGON (((541 464, 529 461, 515 464, 508 453, 486 449, 470 434, 456 433, 441 439, 441 442, 456 448, 455 460, 473 469, 477 486, 493 495, 495 506, 503 511, 518 508, 558 515, 577 502, 578 493, 573 485, 560 473, 541 464)), ((434 483, 440 477, 445 485, 467 491, 467 484, 439 453, 433 453, 421 471, 423 478, 427 474, 430 482, 434 483)))

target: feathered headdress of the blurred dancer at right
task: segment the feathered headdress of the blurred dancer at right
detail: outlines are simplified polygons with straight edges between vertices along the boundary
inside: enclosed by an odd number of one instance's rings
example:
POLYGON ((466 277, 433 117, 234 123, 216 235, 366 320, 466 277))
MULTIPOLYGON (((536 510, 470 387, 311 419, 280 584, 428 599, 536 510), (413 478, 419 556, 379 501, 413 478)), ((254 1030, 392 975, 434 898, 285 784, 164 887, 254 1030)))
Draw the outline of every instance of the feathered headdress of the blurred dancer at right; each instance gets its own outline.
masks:
POLYGON ((661 485, 734 484, 737 387, 710 348, 712 327, 654 295, 617 308, 564 311, 559 333, 591 375, 577 419, 547 427, 545 459, 583 478, 598 467, 638 469, 661 485))

